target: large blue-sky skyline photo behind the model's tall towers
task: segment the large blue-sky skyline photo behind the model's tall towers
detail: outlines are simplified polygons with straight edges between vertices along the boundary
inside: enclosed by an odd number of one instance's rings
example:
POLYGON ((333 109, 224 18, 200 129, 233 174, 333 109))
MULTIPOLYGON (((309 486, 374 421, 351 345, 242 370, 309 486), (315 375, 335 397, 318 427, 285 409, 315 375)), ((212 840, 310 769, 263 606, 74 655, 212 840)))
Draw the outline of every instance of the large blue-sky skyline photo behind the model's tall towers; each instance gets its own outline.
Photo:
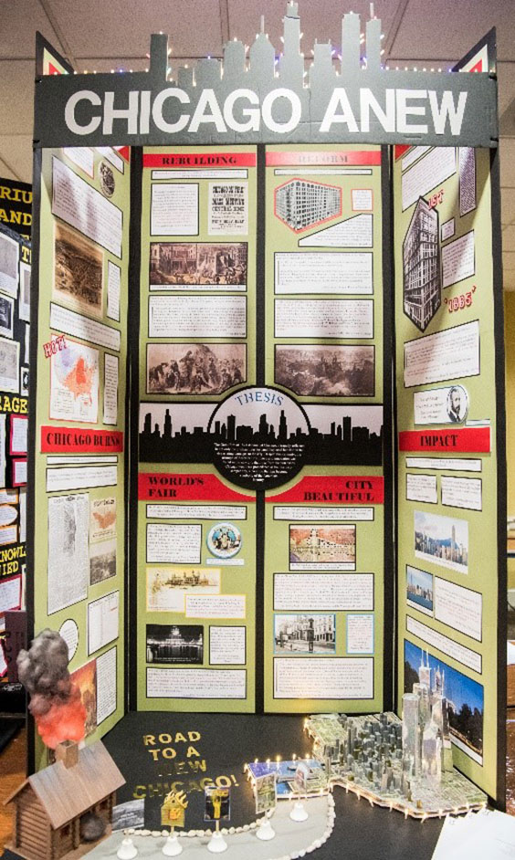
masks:
MULTIPOLYGON (((427 655, 424 655, 427 664, 427 655)), ((470 759, 483 762, 484 689, 472 678, 462 675, 433 655, 428 655, 431 685, 441 685, 447 699, 451 740, 470 759)), ((422 650, 405 639, 405 693, 420 682, 422 650)))

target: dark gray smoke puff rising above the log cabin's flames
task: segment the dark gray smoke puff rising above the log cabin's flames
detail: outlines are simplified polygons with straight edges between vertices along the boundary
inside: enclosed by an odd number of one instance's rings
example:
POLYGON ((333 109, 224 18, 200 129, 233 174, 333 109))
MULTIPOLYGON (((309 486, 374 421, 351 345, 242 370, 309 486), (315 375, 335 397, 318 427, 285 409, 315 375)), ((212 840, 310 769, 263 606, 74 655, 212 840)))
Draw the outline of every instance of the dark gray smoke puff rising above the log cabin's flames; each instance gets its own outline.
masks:
POLYGON ((55 630, 44 630, 28 651, 20 651, 16 663, 18 676, 30 693, 30 711, 34 717, 47 714, 51 705, 65 704, 71 695, 68 672, 68 645, 55 630))

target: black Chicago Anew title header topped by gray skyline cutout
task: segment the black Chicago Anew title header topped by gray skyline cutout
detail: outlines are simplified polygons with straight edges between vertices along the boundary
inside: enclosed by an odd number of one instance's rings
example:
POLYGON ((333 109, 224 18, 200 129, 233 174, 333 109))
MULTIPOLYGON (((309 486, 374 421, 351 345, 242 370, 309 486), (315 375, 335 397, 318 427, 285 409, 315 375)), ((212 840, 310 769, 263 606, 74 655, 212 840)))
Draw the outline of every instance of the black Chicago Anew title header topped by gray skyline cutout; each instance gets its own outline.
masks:
POLYGON ((317 42, 300 51, 298 5, 283 18, 282 53, 261 32, 223 60, 169 66, 168 37, 152 36, 146 72, 37 79, 37 146, 220 142, 424 142, 497 145, 496 80, 489 73, 387 70, 381 21, 342 19, 342 53, 317 42), (492 98, 493 95, 493 98, 492 98))

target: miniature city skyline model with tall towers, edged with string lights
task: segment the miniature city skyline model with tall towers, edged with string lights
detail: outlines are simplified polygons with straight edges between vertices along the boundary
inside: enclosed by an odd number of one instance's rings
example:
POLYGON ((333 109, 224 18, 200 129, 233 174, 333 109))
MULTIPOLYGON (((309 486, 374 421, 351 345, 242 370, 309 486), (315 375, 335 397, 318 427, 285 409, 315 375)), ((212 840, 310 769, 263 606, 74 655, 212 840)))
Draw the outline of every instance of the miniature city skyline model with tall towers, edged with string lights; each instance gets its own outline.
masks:
POLYGON ((432 670, 422 660, 418 683, 403 696, 402 720, 391 712, 318 714, 305 728, 313 755, 331 768, 331 784, 406 817, 467 813, 488 798, 453 767, 445 676, 437 668, 432 686, 432 670))

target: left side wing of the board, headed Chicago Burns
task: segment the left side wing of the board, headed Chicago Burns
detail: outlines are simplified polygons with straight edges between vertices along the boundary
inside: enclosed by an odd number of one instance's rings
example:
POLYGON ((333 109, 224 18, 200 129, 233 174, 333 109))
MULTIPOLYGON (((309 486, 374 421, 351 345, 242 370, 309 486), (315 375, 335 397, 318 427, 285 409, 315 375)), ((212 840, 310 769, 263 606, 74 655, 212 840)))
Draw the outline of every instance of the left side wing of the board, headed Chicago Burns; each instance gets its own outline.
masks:
POLYGON ((98 738, 124 711, 130 165, 45 150, 37 195, 34 629, 66 638, 98 738))

